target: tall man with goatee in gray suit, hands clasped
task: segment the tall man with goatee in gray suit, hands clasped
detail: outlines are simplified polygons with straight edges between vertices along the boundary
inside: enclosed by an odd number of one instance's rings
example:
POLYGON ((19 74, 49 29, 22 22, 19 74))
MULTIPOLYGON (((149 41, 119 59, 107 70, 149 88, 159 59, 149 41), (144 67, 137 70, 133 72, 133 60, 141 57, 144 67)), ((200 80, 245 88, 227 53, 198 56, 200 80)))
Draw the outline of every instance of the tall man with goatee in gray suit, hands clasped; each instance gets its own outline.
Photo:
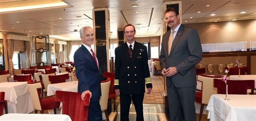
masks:
POLYGON ((202 46, 197 31, 180 24, 179 18, 174 8, 165 11, 171 30, 163 36, 159 60, 166 77, 171 121, 196 121, 195 65, 202 60, 202 46))

